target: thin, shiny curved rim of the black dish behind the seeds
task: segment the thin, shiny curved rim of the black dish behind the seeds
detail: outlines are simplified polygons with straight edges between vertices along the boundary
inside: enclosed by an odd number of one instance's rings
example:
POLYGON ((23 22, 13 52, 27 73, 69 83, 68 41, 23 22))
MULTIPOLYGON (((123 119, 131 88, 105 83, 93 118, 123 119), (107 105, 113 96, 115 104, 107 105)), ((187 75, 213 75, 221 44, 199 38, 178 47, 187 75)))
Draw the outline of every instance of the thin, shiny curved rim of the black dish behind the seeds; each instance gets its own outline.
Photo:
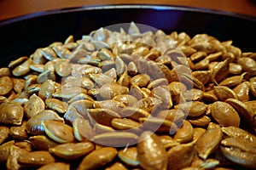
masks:
POLYGON ((52 14, 67 14, 73 12, 79 12, 84 10, 101 10, 101 9, 116 9, 116 8, 143 8, 143 9, 155 9, 155 10, 176 10, 176 11, 188 11, 188 12, 196 12, 201 14, 217 14, 230 16, 235 18, 240 18, 242 20, 252 20, 256 22, 256 16, 247 15, 247 14, 238 14, 230 11, 224 11, 219 9, 212 8, 197 8, 197 7, 189 7, 189 6, 180 6, 180 5, 164 5, 164 4, 103 4, 103 5, 85 5, 81 7, 75 8, 56 8, 52 10, 45 10, 41 12, 36 12, 32 14, 23 14, 20 16, 16 16, 6 20, 0 20, 0 27, 7 26, 9 24, 28 20, 32 18, 37 18, 39 16, 46 16, 52 14))

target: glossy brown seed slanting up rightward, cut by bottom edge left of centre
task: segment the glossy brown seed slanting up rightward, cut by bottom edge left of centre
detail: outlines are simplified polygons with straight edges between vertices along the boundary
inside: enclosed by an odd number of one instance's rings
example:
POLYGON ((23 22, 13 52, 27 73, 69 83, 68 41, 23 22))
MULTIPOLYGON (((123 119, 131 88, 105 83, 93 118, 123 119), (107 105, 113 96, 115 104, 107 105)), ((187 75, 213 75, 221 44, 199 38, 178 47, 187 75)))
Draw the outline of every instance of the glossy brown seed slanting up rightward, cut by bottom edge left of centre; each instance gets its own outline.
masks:
POLYGON ((103 147, 90 152, 79 164, 77 170, 96 169, 113 161, 118 151, 112 147, 103 147))

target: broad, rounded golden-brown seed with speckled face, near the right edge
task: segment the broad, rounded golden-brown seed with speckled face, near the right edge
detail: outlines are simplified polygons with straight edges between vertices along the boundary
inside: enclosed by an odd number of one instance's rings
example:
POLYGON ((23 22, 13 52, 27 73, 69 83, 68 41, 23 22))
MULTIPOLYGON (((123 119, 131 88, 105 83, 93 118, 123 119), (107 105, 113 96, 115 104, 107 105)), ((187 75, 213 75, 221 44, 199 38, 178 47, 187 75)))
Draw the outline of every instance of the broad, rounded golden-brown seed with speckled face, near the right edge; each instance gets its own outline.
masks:
POLYGON ((237 111, 225 102, 214 102, 211 106, 211 115, 221 126, 239 127, 240 125, 240 116, 237 111))

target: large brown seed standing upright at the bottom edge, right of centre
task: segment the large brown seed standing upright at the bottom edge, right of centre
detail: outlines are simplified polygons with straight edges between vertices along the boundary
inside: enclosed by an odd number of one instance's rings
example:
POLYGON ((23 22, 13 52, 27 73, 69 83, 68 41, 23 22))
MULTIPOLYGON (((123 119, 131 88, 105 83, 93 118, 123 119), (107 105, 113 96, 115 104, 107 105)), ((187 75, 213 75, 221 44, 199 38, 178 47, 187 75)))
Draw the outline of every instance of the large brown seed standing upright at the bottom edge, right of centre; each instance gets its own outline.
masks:
POLYGON ((154 133, 145 131, 137 144, 138 161, 144 169, 167 169, 167 153, 164 145, 154 133))

